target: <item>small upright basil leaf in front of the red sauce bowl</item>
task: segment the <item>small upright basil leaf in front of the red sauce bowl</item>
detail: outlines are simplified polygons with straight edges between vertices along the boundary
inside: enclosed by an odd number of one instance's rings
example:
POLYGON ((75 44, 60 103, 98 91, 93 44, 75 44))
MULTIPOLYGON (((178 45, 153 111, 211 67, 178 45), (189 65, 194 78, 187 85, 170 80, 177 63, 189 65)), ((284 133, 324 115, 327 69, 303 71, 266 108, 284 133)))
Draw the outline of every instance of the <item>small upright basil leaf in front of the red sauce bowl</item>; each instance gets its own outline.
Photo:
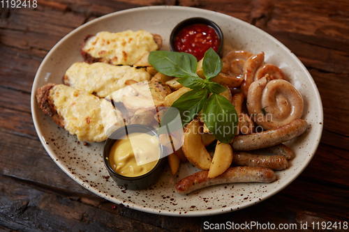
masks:
POLYGON ((202 61, 202 71, 206 79, 212 79, 221 72, 223 63, 214 49, 211 47, 205 52, 204 60, 202 61))

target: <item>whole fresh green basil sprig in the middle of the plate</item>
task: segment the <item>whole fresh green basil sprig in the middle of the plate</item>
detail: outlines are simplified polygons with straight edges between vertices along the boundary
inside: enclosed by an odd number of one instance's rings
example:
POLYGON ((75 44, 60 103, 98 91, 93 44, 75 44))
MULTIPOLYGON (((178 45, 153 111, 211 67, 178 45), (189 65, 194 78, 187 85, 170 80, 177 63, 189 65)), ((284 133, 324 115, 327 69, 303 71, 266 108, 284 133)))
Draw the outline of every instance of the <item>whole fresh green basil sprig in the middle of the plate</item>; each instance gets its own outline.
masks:
MULTIPOLYGON (((171 106, 178 109, 183 126, 191 122, 201 111, 205 125, 218 141, 225 144, 232 141, 237 132, 237 111, 229 100, 219 95, 226 88, 211 82, 211 79, 221 72, 223 66, 214 49, 208 49, 202 61, 205 79, 196 74, 198 61, 192 54, 154 51, 150 52, 148 62, 158 72, 170 77, 179 77, 177 82, 193 89, 181 95, 171 106), (210 93, 212 94, 209 95, 210 93)), ((161 120, 161 128, 166 128, 164 125, 169 126, 177 114, 171 108, 168 109, 161 120)), ((163 133, 166 130, 159 132, 163 133)))

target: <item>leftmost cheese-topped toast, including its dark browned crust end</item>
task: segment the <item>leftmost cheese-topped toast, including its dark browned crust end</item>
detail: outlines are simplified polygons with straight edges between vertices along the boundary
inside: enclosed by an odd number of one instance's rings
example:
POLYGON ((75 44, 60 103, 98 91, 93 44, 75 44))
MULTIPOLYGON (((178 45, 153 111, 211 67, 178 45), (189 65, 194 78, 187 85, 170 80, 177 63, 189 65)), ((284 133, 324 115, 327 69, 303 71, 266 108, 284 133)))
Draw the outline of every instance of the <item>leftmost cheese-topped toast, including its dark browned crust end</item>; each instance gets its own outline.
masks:
POLYGON ((44 114, 70 134, 76 134, 79 141, 105 141, 109 127, 124 125, 121 112, 112 107, 111 102, 64 84, 46 84, 38 88, 36 100, 44 114), (103 111, 103 107, 107 110, 103 111), (110 109, 114 114, 107 114, 110 109))

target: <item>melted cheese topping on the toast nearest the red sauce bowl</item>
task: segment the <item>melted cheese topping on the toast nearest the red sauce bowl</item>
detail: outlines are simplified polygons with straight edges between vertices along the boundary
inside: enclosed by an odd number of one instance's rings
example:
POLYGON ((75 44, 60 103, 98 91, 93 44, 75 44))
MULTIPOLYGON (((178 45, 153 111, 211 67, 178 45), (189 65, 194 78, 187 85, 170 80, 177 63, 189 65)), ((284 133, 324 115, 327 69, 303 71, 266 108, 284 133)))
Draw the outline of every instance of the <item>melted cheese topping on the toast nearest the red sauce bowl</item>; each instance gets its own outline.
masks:
POLYGON ((94 58, 114 65, 133 65, 147 52, 155 51, 158 45, 147 31, 101 31, 87 40, 83 51, 94 58))

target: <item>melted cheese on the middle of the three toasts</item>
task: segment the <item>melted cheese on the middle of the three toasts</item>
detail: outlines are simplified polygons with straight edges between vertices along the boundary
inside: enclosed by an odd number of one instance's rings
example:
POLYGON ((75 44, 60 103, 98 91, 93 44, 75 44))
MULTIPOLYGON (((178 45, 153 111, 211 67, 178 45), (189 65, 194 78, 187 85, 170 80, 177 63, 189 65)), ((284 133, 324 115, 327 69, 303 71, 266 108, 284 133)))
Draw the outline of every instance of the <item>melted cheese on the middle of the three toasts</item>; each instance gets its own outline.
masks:
POLYGON ((150 79, 150 74, 143 68, 137 69, 128 65, 77 62, 66 70, 66 77, 69 86, 105 98, 110 93, 126 87, 126 80, 143 82, 150 79))

